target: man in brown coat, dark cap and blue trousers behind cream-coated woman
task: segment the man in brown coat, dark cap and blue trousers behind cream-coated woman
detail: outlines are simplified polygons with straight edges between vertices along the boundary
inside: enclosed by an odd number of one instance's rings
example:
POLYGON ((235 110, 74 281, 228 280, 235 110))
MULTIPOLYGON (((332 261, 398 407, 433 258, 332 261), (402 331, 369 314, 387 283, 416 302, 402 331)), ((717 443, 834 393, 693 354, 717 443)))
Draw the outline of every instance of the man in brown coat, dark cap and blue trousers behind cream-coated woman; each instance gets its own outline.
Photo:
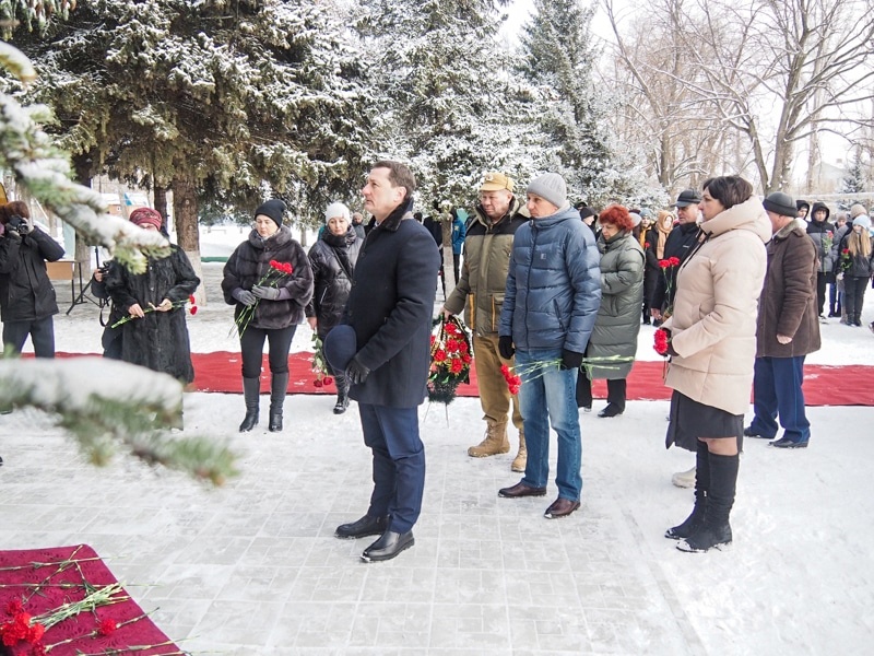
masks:
POLYGON ((768 243, 768 270, 758 303, 755 418, 744 435, 772 440, 779 415, 783 436, 771 446, 804 448, 811 438, 801 389, 804 358, 819 350, 816 251, 805 235, 804 220, 795 218, 798 210, 791 196, 778 191, 763 204, 773 237, 768 243))

